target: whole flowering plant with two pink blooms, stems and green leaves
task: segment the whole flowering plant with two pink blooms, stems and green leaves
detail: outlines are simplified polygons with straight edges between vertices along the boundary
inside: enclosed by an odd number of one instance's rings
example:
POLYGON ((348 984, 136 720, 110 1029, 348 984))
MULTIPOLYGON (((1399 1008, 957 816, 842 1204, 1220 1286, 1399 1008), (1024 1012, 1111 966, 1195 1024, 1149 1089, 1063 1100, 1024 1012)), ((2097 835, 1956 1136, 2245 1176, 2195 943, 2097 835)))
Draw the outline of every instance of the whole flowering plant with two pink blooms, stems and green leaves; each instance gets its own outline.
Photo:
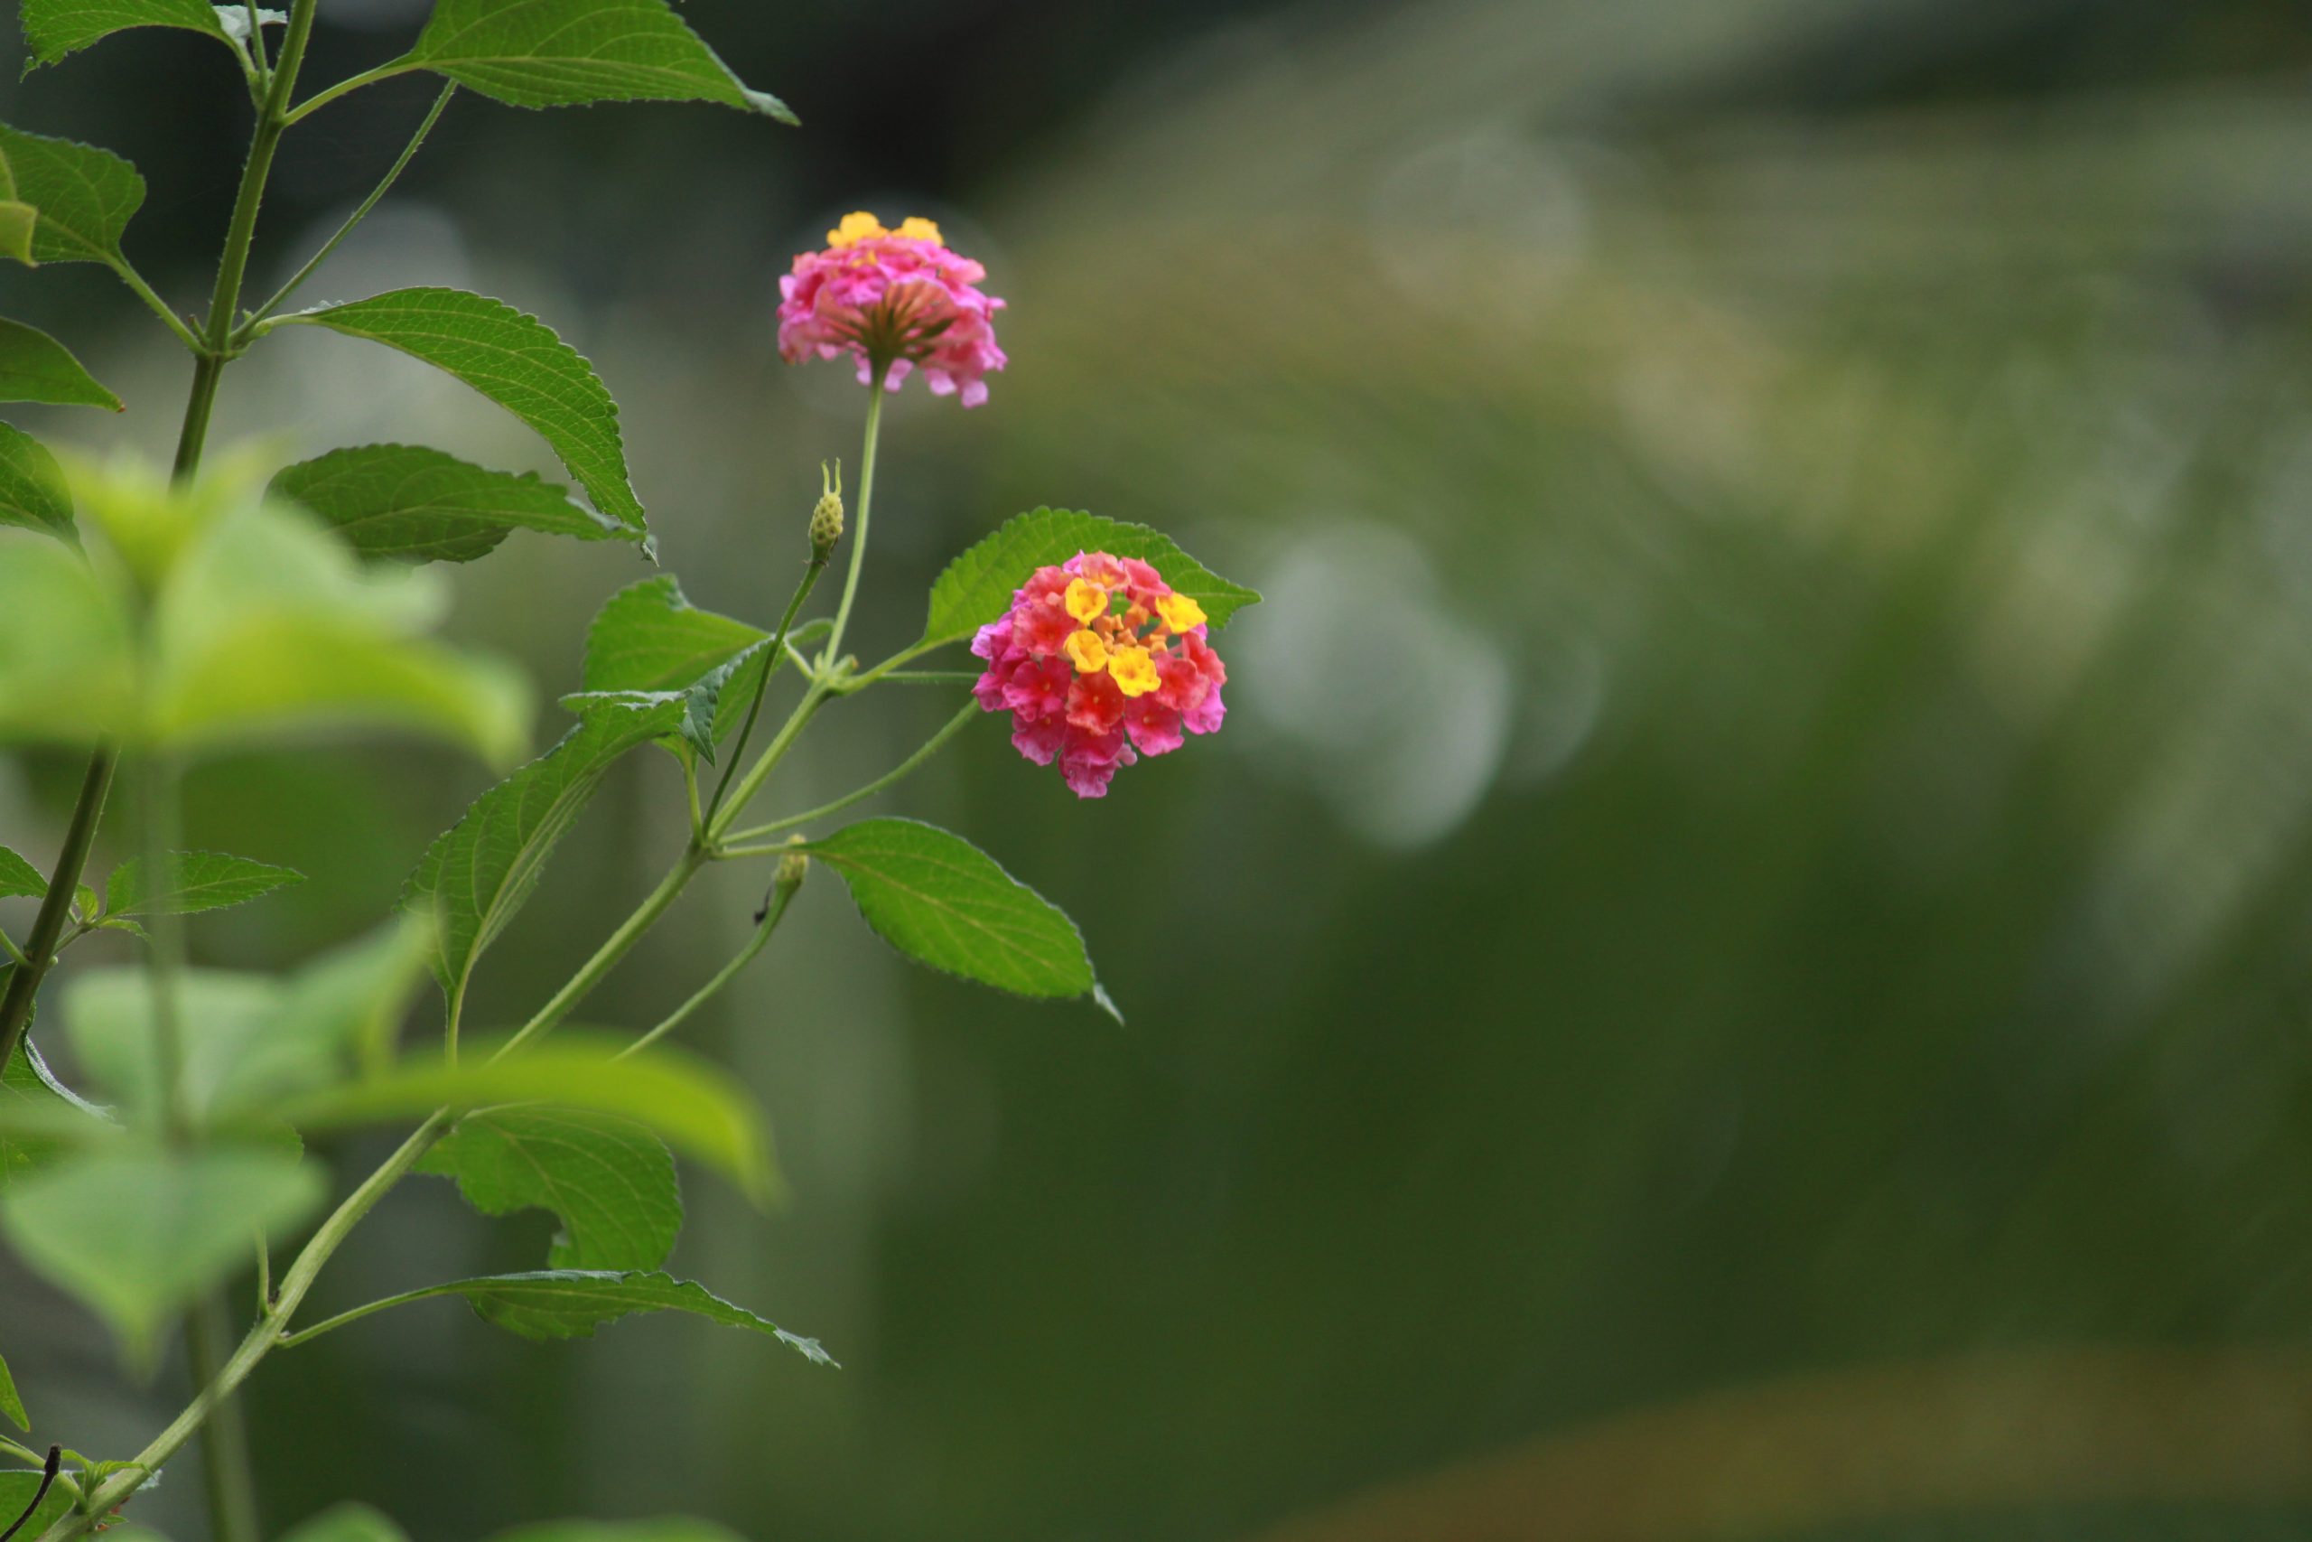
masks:
MULTIPOLYGON (((939 576, 916 643, 872 666, 846 652, 885 398, 920 372, 934 395, 978 407, 987 377, 1008 363, 994 328, 1003 301, 983 289, 978 261, 929 220, 885 229, 855 213, 823 250, 793 261, 777 314, 788 361, 849 354, 869 388, 855 511, 830 467, 807 518, 786 536, 765 534, 781 566, 800 559, 784 603, 763 608, 770 624, 691 606, 670 573, 613 594, 587 629, 580 689, 560 698, 571 724, 520 763, 529 687, 504 663, 428 636, 442 583, 425 566, 481 559, 513 532, 627 541, 654 559, 608 388, 546 324, 479 294, 414 287, 287 305, 391 190, 460 88, 518 106, 696 99, 793 118, 740 83, 666 0, 435 0, 407 53, 301 99, 314 9, 317 0, 291 0, 287 12, 23 0, 25 42, 42 65, 132 25, 203 35, 238 62, 257 123, 215 287, 192 321, 123 250, 143 178, 106 150, 0 125, 0 257, 111 268, 192 356, 169 474, 51 451, 0 423, 0 740, 88 756, 53 858, 0 848, 0 899, 30 915, 21 941, 0 932, 0 1237, 104 1318, 132 1364, 153 1366, 162 1341, 183 1334, 194 1382, 143 1450, 97 1459, 49 1438, 0 1362, 0 1419, 42 1436, 0 1436, 0 1459, 23 1463, 0 1473, 0 1542, 104 1530, 194 1440, 210 1533, 252 1542, 240 1385, 273 1352, 418 1302, 455 1297, 541 1341, 680 1311, 832 1364, 816 1341, 666 1272, 682 1223, 677 1158, 754 1200, 777 1186, 754 1098, 670 1038, 763 952, 821 865, 913 959, 1114 1013, 1075 925, 964 837, 902 818, 830 821, 920 768, 983 710, 1010 712, 1020 751, 1040 765, 1057 758, 1077 795, 1105 793, 1138 754, 1168 754, 1221 726, 1225 670, 1209 638, 1258 599, 1154 529, 1036 509, 939 576), (245 305, 282 136, 400 74, 432 74, 442 90, 384 183, 273 296, 245 305), (573 485, 391 442, 333 448, 271 476, 208 458, 229 365, 284 328, 314 326, 465 381, 534 428, 573 485), (832 615, 805 620, 846 546, 832 615), (911 668, 966 640, 983 673, 911 668), (890 772, 818 807, 742 823, 818 714, 883 682, 953 689, 959 703, 890 772), (784 719, 754 749, 765 707, 788 691, 784 719), (284 976, 194 966, 190 915, 264 899, 301 876, 180 848, 185 765, 321 726, 439 737, 502 779, 414 853, 400 913, 372 934, 284 976), (523 1022, 474 1031, 467 996, 483 957, 606 772, 647 747, 680 770, 687 814, 666 876, 523 1022), (132 839, 97 888, 116 781, 134 793, 132 839), (647 1029, 566 1026, 701 872, 749 860, 768 867, 768 892, 735 957, 647 1029), (76 957, 58 971, 67 950, 97 936, 141 952, 106 966, 76 957), (442 1040, 405 1050, 425 976, 439 987, 442 1040), (39 1043, 35 1006, 46 1008, 39 1043), (317 1147, 377 1124, 398 1128, 400 1144, 335 1193, 317 1147), (562 1232, 546 1267, 425 1281, 314 1320, 305 1309, 324 1269, 409 1174, 455 1181, 483 1214, 553 1211, 562 1232), (289 1251, 277 1260, 275 1248, 289 1251)), ((0 321, 0 381, 9 400, 120 409, 65 344, 16 321, 0 321)), ((9 1327, 0 1322, 0 1352, 9 1327)), ((384 1517, 356 1510, 296 1530, 298 1542, 395 1535, 384 1517)))

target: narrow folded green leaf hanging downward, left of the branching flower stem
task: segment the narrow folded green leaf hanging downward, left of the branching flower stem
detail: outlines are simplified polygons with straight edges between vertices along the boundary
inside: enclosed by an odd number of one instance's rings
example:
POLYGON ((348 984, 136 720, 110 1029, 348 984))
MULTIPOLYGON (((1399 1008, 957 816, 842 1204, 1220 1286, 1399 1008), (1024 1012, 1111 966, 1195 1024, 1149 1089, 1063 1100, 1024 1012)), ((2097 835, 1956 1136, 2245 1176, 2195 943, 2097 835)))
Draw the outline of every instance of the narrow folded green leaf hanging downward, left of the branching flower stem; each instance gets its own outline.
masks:
POLYGON ((576 728, 543 756, 474 800, 442 832, 402 888, 402 904, 439 922, 435 978, 458 999, 483 950, 523 909, 546 858, 601 786, 610 765, 682 721, 682 698, 643 705, 592 700, 576 728))

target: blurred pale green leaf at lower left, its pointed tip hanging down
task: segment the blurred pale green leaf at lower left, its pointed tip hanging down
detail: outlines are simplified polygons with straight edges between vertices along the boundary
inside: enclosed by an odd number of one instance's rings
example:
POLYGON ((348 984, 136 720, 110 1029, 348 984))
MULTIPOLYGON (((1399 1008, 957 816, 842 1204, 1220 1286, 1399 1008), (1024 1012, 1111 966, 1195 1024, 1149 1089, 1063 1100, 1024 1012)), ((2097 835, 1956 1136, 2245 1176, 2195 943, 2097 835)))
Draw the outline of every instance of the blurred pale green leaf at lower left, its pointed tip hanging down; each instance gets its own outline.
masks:
POLYGON ((231 1276, 252 1237, 312 1214, 324 1191, 317 1170, 282 1151, 99 1151, 12 1184, 0 1232, 150 1362, 162 1325, 231 1276))

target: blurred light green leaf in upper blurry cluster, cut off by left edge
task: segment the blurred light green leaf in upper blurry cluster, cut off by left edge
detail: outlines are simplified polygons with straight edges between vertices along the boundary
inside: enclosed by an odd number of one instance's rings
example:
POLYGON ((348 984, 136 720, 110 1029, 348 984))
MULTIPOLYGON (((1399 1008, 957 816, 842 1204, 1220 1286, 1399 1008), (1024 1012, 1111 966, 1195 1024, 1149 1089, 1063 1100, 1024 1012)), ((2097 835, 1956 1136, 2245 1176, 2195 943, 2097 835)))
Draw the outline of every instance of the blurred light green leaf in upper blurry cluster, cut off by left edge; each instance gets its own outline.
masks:
POLYGON ((129 629, 67 546, 0 527, 0 737, 92 742, 134 700, 129 629))

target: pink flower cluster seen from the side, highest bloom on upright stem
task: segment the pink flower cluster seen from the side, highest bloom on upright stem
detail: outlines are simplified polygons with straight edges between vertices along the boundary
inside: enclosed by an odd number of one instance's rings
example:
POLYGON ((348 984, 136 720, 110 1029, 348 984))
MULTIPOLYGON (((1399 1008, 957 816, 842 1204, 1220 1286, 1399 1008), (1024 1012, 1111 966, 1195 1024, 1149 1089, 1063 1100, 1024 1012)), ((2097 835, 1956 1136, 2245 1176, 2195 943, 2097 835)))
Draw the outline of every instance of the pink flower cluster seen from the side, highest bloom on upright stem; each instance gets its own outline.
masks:
POLYGON ((885 231, 869 213, 844 215, 823 252, 795 257, 779 280, 779 356, 855 354, 860 384, 883 370, 897 391, 922 370, 932 395, 962 393, 964 407, 987 400, 987 375, 1003 368, 994 314, 1003 301, 980 294, 987 268, 950 252, 929 220, 902 220, 885 231))

